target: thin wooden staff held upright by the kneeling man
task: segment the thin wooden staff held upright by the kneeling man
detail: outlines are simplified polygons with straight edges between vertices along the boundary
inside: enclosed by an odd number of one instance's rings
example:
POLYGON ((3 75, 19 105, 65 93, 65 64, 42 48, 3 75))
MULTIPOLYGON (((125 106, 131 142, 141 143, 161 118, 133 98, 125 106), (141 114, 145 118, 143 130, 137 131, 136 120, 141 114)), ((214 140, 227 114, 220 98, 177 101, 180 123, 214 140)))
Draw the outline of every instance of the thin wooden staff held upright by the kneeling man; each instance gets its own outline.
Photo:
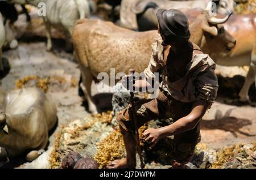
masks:
MULTIPOLYGON (((134 74, 134 69, 131 68, 129 70, 129 74, 130 73, 133 73, 134 74)), ((137 137, 137 150, 138 150, 138 154, 139 154, 139 159, 141 160, 141 169, 144 169, 144 164, 143 164, 143 158, 142 158, 142 151, 141 151, 141 144, 139 142, 139 128, 138 128, 138 121, 137 121, 137 115, 136 115, 136 112, 135 112, 135 105, 134 105, 134 93, 133 92, 130 92, 130 102, 131 102, 131 110, 133 112, 133 115, 132 115, 132 119, 133 119, 133 122, 134 122, 134 127, 135 127, 135 130, 136 130, 136 137, 137 137)))

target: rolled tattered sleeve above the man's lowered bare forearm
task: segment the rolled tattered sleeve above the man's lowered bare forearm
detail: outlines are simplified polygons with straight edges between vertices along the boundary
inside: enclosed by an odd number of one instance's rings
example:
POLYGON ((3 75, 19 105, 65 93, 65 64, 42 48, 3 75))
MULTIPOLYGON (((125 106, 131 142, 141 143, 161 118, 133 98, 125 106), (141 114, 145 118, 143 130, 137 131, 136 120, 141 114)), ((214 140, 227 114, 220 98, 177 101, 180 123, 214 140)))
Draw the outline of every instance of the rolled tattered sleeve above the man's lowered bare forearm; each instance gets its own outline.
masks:
POLYGON ((216 65, 208 67, 208 70, 201 72, 196 80, 196 100, 214 102, 217 97, 218 79, 214 72, 216 65))

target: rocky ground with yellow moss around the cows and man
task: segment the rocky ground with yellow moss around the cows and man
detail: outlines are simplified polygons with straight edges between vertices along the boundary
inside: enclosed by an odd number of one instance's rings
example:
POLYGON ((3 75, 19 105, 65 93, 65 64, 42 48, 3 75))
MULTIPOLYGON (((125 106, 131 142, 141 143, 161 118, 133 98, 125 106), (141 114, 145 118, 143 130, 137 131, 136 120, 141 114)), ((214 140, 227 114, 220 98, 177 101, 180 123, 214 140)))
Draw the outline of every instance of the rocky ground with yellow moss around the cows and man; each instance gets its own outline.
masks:
MULTIPOLYGON (((25 17, 20 16, 16 28, 20 29, 19 47, 3 54, 9 60, 11 69, 1 82, 0 102, 11 89, 28 86, 42 88, 56 102, 59 123, 49 138, 48 148, 42 151, 39 158, 26 162, 24 157, 20 157, 3 168, 59 168, 70 149, 94 157, 100 168, 125 156, 122 136, 112 112, 97 115, 86 112, 86 104, 84 106, 77 93, 79 68, 72 53, 64 50, 63 35, 53 30, 54 48, 52 52, 46 52, 42 20, 34 18, 31 24, 27 24, 25 17)), ((219 95, 203 118, 201 143, 197 145, 195 156, 186 165, 187 168, 256 167, 256 109, 236 106, 232 102, 241 88, 246 71, 247 67, 217 67, 219 95)), ((112 95, 99 95, 95 89, 94 84, 93 95, 100 109, 112 108, 112 95)), ((250 95, 256 101, 254 86, 250 95)), ((164 126, 165 123, 168 122, 152 121, 143 126, 141 132, 147 127, 164 126)), ((166 138, 151 151, 143 147, 146 168, 171 168, 171 146, 172 139, 166 138)))

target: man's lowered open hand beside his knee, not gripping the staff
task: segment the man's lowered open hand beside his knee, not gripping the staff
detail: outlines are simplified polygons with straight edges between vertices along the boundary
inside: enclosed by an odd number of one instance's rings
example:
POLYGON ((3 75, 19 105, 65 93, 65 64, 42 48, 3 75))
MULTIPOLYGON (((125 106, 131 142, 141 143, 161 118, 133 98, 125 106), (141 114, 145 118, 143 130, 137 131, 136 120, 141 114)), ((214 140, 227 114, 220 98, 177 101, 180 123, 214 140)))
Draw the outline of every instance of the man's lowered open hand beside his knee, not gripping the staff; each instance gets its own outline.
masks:
POLYGON ((142 134, 142 140, 150 144, 150 148, 154 147, 159 139, 159 132, 155 128, 149 128, 142 134))

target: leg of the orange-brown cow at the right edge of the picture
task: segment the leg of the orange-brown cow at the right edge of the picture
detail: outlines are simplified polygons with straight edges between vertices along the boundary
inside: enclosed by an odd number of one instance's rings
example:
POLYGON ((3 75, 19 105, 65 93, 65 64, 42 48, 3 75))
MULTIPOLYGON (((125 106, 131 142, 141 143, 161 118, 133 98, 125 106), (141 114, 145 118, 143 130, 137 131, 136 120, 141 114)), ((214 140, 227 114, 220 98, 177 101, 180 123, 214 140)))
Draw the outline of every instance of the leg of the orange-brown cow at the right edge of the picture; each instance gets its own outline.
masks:
POLYGON ((247 73, 247 76, 245 78, 245 83, 243 84, 243 87, 239 93, 240 101, 242 102, 249 102, 250 104, 250 98, 248 95, 249 89, 251 84, 254 82, 256 78, 256 50, 253 51, 253 54, 251 55, 251 64, 249 68, 249 72, 247 73))

